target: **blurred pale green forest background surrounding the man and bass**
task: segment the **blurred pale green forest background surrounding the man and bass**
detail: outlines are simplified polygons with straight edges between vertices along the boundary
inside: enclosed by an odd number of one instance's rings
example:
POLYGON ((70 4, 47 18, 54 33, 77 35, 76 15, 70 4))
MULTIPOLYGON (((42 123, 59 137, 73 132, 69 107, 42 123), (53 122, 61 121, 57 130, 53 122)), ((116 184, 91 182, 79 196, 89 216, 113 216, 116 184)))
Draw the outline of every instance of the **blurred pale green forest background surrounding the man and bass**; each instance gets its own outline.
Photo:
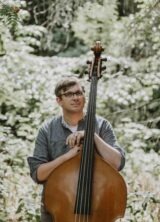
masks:
POLYGON ((27 157, 56 115, 58 79, 83 78, 90 47, 108 58, 97 113, 126 150, 123 222, 160 221, 160 1, 0 0, 0 222, 40 221, 27 157))

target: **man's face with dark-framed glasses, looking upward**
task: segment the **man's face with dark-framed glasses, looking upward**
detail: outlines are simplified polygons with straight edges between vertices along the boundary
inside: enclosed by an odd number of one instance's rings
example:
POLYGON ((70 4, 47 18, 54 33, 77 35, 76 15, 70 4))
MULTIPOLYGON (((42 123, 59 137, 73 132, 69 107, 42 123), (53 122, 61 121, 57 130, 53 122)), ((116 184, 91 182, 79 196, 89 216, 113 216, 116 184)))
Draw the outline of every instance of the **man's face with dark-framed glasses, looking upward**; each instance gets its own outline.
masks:
POLYGON ((61 96, 57 97, 58 104, 63 112, 81 113, 85 104, 82 87, 79 84, 69 87, 66 91, 61 90, 61 96))

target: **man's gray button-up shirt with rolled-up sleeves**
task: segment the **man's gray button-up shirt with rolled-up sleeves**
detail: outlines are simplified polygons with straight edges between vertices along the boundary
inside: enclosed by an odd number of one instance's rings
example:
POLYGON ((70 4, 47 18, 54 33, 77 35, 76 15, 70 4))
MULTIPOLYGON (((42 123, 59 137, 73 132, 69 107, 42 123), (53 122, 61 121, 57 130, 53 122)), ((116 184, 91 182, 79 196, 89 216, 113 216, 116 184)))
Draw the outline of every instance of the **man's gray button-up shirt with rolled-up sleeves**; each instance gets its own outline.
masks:
MULTIPOLYGON (((62 116, 54 117, 42 125, 36 138, 34 154, 32 157, 28 157, 31 177, 37 183, 40 183, 37 179, 38 167, 69 151, 69 147, 66 145, 66 138, 72 132, 62 119, 62 116)), ((79 121, 77 130, 84 129, 85 118, 79 121)), ((111 124, 104 118, 96 116, 95 131, 106 143, 120 152, 121 165, 119 170, 121 170, 125 164, 125 153, 117 143, 111 124)))

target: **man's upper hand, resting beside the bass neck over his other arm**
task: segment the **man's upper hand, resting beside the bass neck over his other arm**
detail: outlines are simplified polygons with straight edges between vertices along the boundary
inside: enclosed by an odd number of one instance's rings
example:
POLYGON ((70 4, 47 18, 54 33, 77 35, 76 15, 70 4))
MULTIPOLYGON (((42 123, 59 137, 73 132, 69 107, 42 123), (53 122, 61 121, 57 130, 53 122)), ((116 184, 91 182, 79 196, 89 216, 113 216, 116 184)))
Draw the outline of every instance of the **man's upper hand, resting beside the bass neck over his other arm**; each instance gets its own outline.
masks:
POLYGON ((84 138, 84 131, 77 131, 75 133, 70 134, 66 139, 66 144, 73 148, 75 146, 81 145, 81 140, 84 138))

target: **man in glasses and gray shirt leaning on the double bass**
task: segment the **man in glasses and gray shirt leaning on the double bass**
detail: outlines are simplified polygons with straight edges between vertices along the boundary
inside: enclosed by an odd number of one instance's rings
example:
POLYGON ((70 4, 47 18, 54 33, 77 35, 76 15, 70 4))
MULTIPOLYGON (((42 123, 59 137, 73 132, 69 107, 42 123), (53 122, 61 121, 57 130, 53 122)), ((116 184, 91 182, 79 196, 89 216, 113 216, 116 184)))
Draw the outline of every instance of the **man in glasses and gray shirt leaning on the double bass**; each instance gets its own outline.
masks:
MULTIPOLYGON (((31 177, 37 183, 44 183, 56 167, 76 156, 84 137, 85 96, 80 81, 77 78, 61 80, 56 85, 55 95, 62 115, 43 124, 36 138, 34 155, 28 158, 31 177)), ((124 151, 117 144, 110 123, 98 116, 94 142, 104 161, 116 170, 124 167, 124 151)), ((52 221, 43 206, 41 221, 52 221)))

